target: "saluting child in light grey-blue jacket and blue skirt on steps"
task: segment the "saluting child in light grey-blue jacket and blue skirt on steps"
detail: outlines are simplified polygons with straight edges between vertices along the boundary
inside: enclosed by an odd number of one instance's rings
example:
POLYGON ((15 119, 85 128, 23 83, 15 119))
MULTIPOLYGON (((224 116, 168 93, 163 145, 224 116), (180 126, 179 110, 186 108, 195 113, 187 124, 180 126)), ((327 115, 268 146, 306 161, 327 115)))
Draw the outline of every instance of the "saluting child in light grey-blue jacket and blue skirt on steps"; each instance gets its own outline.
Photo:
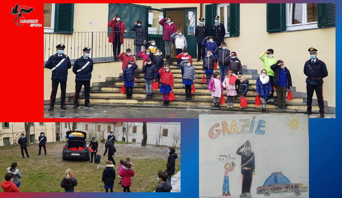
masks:
POLYGON ((191 100, 191 86, 196 79, 195 67, 191 65, 190 60, 183 60, 180 66, 184 70, 183 85, 185 85, 185 99, 191 100))

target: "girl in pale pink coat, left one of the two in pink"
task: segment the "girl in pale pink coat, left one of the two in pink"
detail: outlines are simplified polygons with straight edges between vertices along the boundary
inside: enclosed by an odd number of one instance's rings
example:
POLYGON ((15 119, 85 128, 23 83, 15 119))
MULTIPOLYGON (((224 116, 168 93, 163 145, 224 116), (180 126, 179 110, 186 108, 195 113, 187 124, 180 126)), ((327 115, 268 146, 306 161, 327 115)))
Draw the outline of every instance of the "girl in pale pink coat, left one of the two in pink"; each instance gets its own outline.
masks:
POLYGON ((220 107, 220 97, 223 92, 223 86, 221 82, 221 74, 220 72, 214 72, 213 77, 211 77, 209 82, 209 91, 211 92, 211 96, 213 96, 214 100, 214 108, 220 107))

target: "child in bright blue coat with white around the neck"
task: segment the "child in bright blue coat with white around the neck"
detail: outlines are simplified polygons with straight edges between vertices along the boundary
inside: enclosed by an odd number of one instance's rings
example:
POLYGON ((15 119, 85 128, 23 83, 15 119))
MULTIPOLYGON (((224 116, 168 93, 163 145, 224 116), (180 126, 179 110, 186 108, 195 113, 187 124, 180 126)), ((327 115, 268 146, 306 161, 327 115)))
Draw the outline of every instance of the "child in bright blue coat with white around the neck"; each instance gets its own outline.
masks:
POLYGON ((263 107, 261 108, 262 111, 266 110, 266 100, 271 97, 272 94, 272 85, 269 80, 269 76, 267 75, 266 70, 262 70, 260 76, 257 79, 256 83, 256 94, 259 97, 263 98, 263 107))

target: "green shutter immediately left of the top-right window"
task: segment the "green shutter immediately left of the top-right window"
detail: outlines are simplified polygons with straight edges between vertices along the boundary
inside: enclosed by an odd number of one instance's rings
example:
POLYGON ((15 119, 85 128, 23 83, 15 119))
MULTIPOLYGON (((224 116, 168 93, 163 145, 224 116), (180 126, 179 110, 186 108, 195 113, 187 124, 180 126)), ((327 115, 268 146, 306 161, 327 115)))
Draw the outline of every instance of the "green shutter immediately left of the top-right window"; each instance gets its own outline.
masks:
POLYGON ((267 32, 285 31, 285 3, 267 3, 266 13, 267 32))

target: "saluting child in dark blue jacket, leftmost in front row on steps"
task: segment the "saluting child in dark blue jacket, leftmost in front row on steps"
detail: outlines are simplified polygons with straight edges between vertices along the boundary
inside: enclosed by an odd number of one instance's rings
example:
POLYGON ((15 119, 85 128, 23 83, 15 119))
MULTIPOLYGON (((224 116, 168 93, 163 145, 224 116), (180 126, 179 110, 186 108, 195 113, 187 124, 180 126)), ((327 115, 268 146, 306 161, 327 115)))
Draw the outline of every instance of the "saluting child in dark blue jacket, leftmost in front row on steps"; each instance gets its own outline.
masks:
POLYGON ((132 99, 134 86, 134 71, 138 69, 138 65, 129 61, 122 73, 122 83, 126 87, 126 99, 132 99))

